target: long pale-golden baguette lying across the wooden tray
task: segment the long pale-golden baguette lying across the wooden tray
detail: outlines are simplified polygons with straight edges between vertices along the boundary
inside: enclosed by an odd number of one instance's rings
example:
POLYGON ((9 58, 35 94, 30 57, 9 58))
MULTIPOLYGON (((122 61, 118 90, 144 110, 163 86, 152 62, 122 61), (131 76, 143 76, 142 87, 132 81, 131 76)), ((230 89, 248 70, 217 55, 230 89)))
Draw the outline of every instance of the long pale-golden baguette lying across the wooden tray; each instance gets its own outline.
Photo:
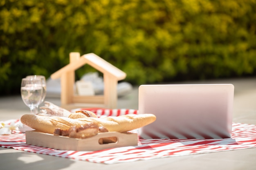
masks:
POLYGON ((22 124, 25 124, 33 129, 53 134, 55 128, 65 130, 72 126, 79 126, 89 122, 94 122, 100 126, 105 126, 109 132, 127 132, 142 126, 146 126, 155 121, 155 119, 156 117, 153 114, 130 114, 118 117, 102 118, 84 117, 79 119, 58 116, 23 115, 20 118, 20 121, 22 124))

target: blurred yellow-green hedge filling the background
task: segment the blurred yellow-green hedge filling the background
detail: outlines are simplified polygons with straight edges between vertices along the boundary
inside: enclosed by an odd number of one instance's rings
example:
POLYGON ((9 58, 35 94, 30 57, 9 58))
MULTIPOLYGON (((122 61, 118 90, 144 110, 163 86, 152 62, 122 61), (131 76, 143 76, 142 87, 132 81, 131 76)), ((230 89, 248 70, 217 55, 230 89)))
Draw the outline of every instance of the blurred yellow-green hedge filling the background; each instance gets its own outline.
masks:
POLYGON ((132 84, 253 75, 256 0, 0 1, 0 94, 49 77, 70 52, 99 55, 132 84))

